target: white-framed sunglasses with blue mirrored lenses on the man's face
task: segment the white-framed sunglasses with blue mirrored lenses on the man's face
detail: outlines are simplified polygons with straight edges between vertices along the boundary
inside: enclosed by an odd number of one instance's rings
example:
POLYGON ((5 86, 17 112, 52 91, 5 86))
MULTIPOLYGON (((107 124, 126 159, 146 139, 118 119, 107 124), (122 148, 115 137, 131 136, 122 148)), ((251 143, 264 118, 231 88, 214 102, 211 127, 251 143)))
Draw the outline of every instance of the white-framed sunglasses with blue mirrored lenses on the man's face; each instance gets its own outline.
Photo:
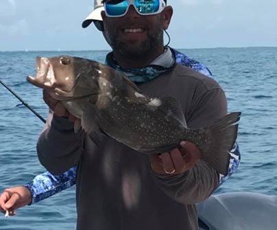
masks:
POLYGON ((165 0, 110 0, 104 1, 106 16, 117 17, 127 14, 130 5, 141 15, 159 14, 165 8, 165 0))

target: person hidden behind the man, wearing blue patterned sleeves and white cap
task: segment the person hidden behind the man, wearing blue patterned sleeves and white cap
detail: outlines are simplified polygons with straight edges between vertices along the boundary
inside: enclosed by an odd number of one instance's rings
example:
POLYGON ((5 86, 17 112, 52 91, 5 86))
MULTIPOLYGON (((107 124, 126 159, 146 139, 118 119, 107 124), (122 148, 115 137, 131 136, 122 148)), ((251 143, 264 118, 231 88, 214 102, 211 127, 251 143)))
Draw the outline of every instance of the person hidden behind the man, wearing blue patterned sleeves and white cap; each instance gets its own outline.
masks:
MULTIPOLYGON (((103 30, 103 25, 101 23, 101 19, 99 18, 99 12, 101 12, 101 10, 103 10, 101 3, 99 1, 95 1, 95 10, 84 21, 83 27, 87 27, 91 23, 91 21, 93 21, 99 30, 103 30)), ((210 72, 208 71, 208 69, 206 69, 206 67, 204 67, 198 62, 195 62, 194 60, 191 60, 187 56, 180 54, 180 52, 177 51, 176 62, 181 62, 182 65, 192 67, 193 69, 197 69, 197 71, 201 71, 207 76, 210 76, 210 72)), ((236 150, 238 152, 238 149, 236 150)), ((234 161, 234 159, 232 159, 232 161, 234 161)), ((233 162, 231 162, 230 166, 232 167, 230 168, 237 168, 239 159, 237 159, 237 161, 235 162, 237 162, 236 167, 234 167, 233 162)), ((4 203, 7 201, 8 202, 5 203, 5 205, 8 205, 6 206, 8 208, 13 207, 14 204, 16 204, 17 206, 14 206, 13 208, 21 207, 27 205, 31 201, 35 203, 39 200, 42 200, 43 198, 47 198, 53 194, 56 194, 57 192, 60 192, 62 189, 65 189, 75 183, 75 170, 76 167, 73 167, 68 172, 61 174, 60 176, 53 176, 49 172, 36 176, 34 181, 26 185, 26 187, 29 188, 31 193, 29 193, 27 189, 24 189, 24 187, 14 187, 7 189, 7 192, 3 193, 0 197, 0 207, 3 207, 4 203), (17 196, 17 194, 21 194, 21 196, 17 196), (33 196, 33 199, 30 198, 31 194, 33 196), (5 200, 5 202, 3 200, 5 200), (3 205, 1 205, 1 203, 3 205), (18 205, 18 203, 20 205, 18 205)), ((230 174, 232 174, 232 172, 230 172, 230 174)))

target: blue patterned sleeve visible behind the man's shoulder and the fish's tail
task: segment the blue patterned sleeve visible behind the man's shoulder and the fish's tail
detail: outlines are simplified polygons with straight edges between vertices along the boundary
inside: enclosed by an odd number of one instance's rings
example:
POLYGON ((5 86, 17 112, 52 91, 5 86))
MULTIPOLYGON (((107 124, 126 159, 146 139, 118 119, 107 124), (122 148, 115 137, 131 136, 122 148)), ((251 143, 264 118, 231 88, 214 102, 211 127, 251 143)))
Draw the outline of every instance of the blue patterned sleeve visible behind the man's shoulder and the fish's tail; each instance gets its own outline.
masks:
MULTIPOLYGON (((176 63, 194 69, 195 71, 198 71, 204 74, 205 76, 213 78, 213 74, 205 65, 203 65, 200 62, 197 62, 196 60, 191 59, 189 56, 182 54, 180 51, 176 49, 173 49, 173 51, 176 55, 176 63)), ((241 154, 239 152, 239 146, 237 143, 234 144, 234 147, 230 151, 230 155, 231 157, 228 174, 226 176, 219 174, 219 185, 224 183, 234 172, 237 171, 237 168, 239 168, 239 163, 241 162, 241 154)))

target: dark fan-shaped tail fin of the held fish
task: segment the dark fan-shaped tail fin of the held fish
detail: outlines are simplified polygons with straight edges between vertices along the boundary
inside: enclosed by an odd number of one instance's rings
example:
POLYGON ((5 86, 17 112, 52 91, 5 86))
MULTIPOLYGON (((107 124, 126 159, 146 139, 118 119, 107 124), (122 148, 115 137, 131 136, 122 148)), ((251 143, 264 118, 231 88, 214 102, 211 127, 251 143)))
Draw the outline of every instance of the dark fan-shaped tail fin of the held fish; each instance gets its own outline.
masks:
POLYGON ((236 122, 239 122, 240 115, 240 112, 230 113, 215 124, 197 130, 203 136, 201 143, 195 143, 202 159, 220 174, 228 174, 230 150, 237 139, 239 125, 236 122))

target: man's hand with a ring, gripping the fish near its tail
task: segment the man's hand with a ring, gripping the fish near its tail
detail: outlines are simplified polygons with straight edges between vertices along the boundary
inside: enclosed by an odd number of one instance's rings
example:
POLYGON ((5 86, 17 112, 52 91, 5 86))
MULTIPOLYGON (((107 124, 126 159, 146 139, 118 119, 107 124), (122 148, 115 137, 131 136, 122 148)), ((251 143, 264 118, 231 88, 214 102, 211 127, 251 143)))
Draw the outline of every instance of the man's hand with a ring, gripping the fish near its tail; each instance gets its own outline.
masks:
POLYGON ((181 148, 162 154, 150 154, 149 159, 153 172, 161 175, 176 175, 186 172, 200 159, 200 151, 195 144, 182 141, 181 148))

